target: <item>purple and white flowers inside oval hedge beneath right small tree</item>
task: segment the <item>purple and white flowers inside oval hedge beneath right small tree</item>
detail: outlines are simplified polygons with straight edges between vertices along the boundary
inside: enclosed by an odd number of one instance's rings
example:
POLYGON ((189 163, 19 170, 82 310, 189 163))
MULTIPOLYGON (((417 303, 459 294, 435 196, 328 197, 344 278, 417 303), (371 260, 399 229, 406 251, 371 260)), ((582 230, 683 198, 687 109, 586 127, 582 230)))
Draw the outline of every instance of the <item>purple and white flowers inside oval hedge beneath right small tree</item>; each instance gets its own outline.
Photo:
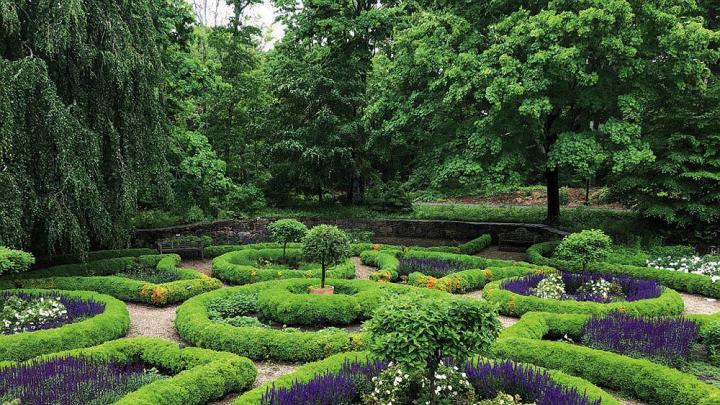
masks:
MULTIPOLYGON (((620 300, 638 301, 656 298, 662 293, 662 287, 654 280, 641 280, 607 274, 560 272, 562 284, 565 288, 564 294, 557 294, 559 288, 555 288, 552 291, 552 296, 546 296, 548 294, 544 284, 548 283, 541 283, 547 277, 547 274, 530 274, 525 277, 507 280, 501 284, 501 288, 520 295, 538 295, 541 298, 600 303, 620 300), (557 298, 558 295, 559 298, 557 298)), ((553 286, 556 286, 556 284, 552 283, 553 286)))

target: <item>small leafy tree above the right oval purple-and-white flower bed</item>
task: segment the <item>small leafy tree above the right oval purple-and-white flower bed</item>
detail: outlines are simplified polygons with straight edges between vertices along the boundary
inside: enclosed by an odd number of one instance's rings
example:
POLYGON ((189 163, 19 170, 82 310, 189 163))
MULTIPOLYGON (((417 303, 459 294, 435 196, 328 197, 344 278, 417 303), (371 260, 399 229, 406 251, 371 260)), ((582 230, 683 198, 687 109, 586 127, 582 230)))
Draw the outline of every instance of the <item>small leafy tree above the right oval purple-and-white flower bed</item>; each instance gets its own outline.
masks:
POLYGON ((588 264, 607 257, 612 240, 598 229, 571 233, 555 249, 555 257, 582 264, 583 271, 588 264))

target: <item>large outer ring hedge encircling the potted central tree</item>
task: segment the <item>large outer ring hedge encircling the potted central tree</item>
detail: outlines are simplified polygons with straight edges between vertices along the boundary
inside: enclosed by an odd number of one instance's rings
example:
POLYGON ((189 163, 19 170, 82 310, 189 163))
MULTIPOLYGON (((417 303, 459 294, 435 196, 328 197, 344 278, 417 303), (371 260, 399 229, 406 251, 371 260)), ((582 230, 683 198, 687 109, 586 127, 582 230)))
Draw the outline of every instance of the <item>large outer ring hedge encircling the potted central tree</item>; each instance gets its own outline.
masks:
MULTIPOLYGON (((345 352, 362 347, 363 333, 349 333, 342 329, 325 329, 318 332, 283 331, 273 328, 236 327, 213 322, 208 317, 207 306, 217 298, 228 297, 238 293, 260 293, 268 289, 290 286, 306 286, 319 283, 318 279, 289 279, 248 284, 238 287, 223 288, 206 294, 198 295, 183 303, 177 310, 175 326, 184 340, 199 347, 222 350, 247 356, 254 360, 273 359, 279 361, 307 362, 325 358, 331 354, 345 352)), ((447 297, 440 291, 418 290, 396 284, 378 284, 366 280, 329 280, 328 284, 344 283, 369 291, 356 296, 363 316, 380 303, 386 292, 418 291, 431 296, 447 297)), ((327 301, 331 303, 331 301, 327 301)), ((304 311, 301 307, 297 311, 304 311)), ((337 310, 328 304, 325 308, 313 310, 337 310)))

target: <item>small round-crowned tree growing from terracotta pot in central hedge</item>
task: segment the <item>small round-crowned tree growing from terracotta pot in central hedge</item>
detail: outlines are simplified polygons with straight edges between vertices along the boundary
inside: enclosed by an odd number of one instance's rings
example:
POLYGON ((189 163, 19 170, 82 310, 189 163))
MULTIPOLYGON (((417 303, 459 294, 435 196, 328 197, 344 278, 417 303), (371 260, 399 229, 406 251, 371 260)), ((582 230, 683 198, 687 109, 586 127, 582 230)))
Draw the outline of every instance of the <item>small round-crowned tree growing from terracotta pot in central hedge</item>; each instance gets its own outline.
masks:
POLYGON ((303 238, 303 257, 309 262, 320 263, 322 278, 320 288, 325 288, 328 266, 350 257, 350 238, 336 226, 318 225, 303 238))

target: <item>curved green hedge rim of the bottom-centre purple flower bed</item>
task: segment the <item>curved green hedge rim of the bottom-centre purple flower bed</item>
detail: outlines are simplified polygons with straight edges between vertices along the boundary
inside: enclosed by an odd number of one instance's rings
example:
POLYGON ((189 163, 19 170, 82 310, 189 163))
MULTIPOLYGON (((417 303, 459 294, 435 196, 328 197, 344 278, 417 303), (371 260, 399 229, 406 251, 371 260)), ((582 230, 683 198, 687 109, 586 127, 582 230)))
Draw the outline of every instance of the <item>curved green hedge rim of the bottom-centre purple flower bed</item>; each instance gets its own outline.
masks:
MULTIPOLYGON (((260 400, 262 399, 262 396, 265 394, 265 392, 267 392, 267 390, 272 387, 290 388, 296 382, 303 383, 310 381, 318 375, 336 372, 342 368, 343 364, 346 361, 364 361, 369 358, 370 355, 368 352, 349 352, 336 354, 321 361, 305 364, 299 369, 295 370, 293 373, 284 375, 275 381, 265 383, 251 391, 244 393, 238 399, 236 399, 235 402, 232 403, 232 405, 257 405, 258 403, 260 403, 260 400)), ((536 369, 543 370, 541 367, 536 367, 536 369)), ((575 388, 580 393, 584 392, 591 400, 600 399, 602 405, 620 404, 610 394, 596 387, 587 380, 567 375, 561 371, 547 371, 552 377, 552 379, 555 380, 555 382, 569 388, 575 388)))

